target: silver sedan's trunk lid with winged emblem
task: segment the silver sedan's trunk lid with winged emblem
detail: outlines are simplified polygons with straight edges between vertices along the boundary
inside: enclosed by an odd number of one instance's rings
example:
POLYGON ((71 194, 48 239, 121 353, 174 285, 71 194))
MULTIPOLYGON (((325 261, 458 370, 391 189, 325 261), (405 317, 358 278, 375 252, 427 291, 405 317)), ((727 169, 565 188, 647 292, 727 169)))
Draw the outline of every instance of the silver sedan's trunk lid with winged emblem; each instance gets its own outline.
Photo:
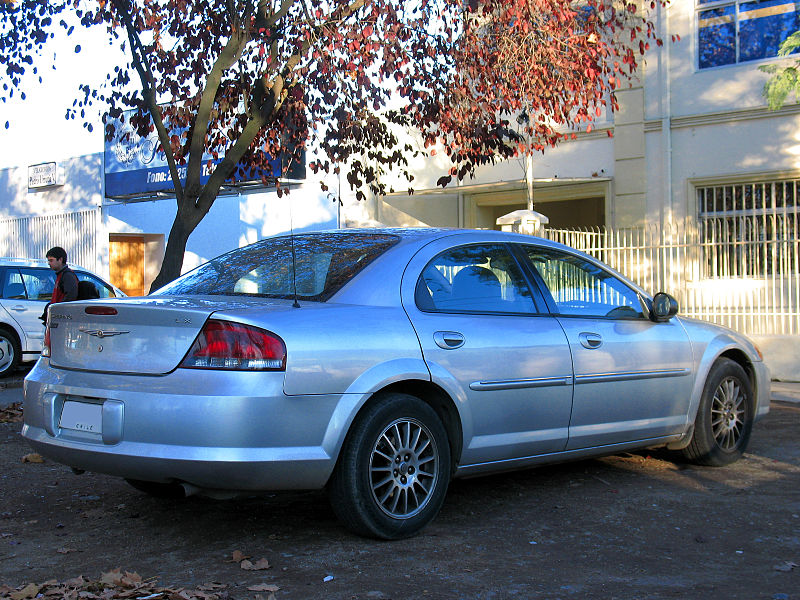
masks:
POLYGON ((261 314, 292 310, 291 301, 148 296, 55 304, 50 307, 50 364, 162 375, 180 364, 212 314, 255 310, 261 314))

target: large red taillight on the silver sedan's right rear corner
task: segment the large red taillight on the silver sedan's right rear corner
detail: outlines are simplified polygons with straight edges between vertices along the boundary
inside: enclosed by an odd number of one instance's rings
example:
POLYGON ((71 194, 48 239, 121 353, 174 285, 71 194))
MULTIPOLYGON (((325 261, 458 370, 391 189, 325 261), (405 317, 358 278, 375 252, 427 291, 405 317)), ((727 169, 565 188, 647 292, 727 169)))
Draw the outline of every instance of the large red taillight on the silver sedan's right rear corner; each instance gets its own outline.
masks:
POLYGON ((206 322, 180 365, 186 369, 283 371, 286 345, 274 333, 228 321, 206 322))

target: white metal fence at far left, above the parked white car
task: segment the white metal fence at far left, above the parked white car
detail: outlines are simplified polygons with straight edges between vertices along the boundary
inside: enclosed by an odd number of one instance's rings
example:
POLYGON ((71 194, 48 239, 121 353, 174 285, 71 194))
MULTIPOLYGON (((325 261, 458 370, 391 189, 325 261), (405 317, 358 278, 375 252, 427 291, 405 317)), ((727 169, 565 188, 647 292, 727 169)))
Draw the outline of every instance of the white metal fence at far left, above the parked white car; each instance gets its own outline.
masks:
POLYGON ((0 220, 0 256, 44 258, 50 248, 61 246, 69 263, 96 271, 99 222, 99 208, 0 220))

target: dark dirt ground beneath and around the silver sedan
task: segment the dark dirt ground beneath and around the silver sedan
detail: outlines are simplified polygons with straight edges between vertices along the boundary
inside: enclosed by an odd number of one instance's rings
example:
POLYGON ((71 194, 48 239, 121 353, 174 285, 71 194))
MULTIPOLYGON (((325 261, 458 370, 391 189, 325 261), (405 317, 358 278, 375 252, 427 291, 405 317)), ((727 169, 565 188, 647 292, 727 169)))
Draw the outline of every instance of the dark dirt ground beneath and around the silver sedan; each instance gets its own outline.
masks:
POLYGON ((26 463, 19 431, 0 424, 0 596, 120 568, 233 598, 270 584, 276 600, 800 599, 800 404, 773 403, 722 469, 644 452, 457 480, 399 542, 349 534, 322 492, 157 500, 26 463), (236 551, 270 567, 245 570, 236 551))

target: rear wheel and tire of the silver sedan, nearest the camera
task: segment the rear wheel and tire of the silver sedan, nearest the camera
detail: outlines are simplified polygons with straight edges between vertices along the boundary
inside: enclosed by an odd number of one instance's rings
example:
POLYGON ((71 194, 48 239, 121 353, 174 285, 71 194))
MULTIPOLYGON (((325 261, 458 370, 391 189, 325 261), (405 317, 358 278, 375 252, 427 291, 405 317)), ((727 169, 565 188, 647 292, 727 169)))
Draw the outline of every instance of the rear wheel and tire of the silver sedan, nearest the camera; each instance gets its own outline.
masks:
POLYGON ((359 415, 328 486, 331 506, 359 535, 411 537, 430 523, 450 483, 450 445, 425 402, 384 394, 359 415))

